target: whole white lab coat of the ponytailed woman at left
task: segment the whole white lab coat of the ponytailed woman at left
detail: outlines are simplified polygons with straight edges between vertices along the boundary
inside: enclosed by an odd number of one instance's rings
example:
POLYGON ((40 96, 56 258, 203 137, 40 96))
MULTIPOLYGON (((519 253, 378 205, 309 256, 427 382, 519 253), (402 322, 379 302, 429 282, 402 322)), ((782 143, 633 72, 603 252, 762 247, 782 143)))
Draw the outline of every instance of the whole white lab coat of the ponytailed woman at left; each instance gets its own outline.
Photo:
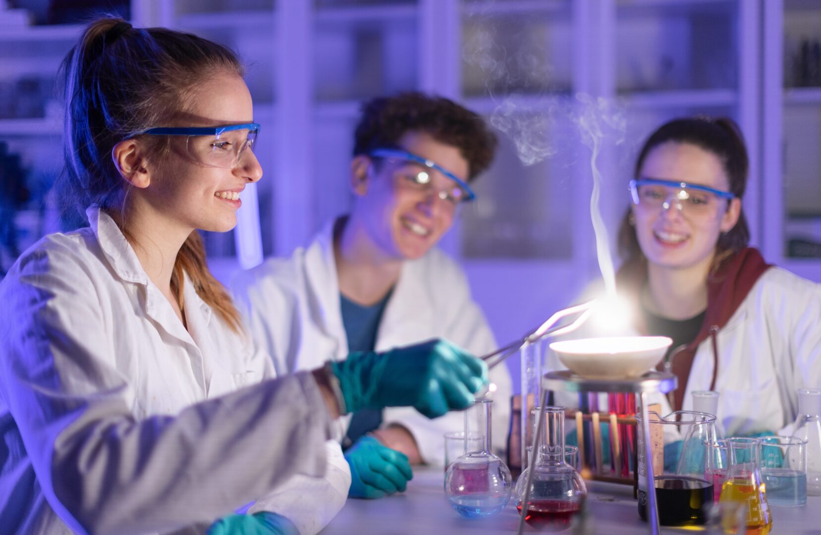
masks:
POLYGON ((187 277, 186 330, 111 217, 88 216, 0 283, 0 532, 201 532, 255 499, 319 531, 350 474, 328 469, 313 378, 267 380, 187 277), (303 492, 316 511, 277 507, 303 492))

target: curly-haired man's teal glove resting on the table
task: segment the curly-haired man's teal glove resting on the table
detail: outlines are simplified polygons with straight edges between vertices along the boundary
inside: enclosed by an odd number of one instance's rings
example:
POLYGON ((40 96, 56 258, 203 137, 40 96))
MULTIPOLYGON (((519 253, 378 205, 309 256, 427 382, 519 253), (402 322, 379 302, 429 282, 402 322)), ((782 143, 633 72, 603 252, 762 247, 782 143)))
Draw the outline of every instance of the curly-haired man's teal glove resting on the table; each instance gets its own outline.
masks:
POLYGON ((351 466, 351 498, 381 498, 405 492, 413 478, 404 453, 383 446, 374 437, 361 437, 345 452, 351 466))

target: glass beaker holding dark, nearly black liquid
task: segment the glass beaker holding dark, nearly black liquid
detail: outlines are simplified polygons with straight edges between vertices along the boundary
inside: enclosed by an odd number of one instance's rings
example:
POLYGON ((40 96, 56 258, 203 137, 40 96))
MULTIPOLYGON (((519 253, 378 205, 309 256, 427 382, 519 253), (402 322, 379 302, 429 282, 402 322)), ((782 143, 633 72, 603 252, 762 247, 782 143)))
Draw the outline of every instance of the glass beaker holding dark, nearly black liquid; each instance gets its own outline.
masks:
MULTIPOLYGON (((639 428, 639 516, 646 521, 647 460, 641 413, 639 428)), ((692 526, 707 522, 713 507, 713 482, 705 477, 707 449, 713 443, 712 414, 678 410, 661 417, 649 413, 658 524, 692 526)))

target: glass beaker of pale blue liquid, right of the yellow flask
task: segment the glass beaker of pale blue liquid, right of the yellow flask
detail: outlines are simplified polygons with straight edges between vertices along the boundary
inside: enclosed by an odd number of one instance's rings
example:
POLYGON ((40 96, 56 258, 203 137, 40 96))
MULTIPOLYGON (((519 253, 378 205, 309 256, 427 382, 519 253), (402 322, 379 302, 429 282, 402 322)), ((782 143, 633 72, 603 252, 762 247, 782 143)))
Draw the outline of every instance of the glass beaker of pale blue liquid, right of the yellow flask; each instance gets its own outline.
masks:
POLYGON ((797 437, 760 440, 761 480, 770 505, 799 507, 807 503, 807 441, 797 437))

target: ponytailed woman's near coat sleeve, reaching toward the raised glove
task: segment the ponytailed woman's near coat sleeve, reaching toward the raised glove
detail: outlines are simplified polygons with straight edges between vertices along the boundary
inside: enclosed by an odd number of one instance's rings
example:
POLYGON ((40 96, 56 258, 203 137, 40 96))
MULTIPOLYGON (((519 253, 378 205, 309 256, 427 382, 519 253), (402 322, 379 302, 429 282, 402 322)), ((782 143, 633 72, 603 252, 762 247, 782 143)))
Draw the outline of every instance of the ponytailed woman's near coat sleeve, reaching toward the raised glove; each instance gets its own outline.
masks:
POLYGON ((323 476, 330 418, 310 373, 136 421, 131 377, 112 366, 107 300, 69 249, 34 250, 0 286, 16 314, 0 322, 0 392, 70 528, 172 531, 229 514, 298 473, 323 476))

